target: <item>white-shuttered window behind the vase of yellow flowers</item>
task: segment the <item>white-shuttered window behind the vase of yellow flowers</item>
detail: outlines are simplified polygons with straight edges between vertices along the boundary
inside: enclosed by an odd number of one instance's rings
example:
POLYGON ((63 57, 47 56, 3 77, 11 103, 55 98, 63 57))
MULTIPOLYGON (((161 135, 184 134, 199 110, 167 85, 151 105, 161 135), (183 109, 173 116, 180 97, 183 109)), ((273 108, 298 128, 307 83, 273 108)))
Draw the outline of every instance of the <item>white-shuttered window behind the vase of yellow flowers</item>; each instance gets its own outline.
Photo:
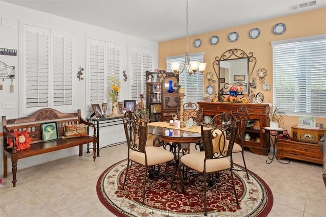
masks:
MULTIPOLYGON (((120 79, 120 45, 88 39, 88 68, 90 104, 107 102, 112 86, 110 77, 120 79)), ((109 103, 109 110, 111 106, 109 103)))

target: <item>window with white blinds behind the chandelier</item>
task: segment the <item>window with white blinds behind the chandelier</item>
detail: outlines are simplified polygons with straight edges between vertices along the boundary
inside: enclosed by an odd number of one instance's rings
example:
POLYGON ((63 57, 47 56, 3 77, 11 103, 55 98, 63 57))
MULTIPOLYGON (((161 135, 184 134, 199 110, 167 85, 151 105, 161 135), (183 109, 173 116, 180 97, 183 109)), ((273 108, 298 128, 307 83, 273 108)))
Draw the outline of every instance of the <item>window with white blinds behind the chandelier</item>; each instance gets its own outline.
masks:
MULTIPOLYGON (((204 62, 204 52, 192 53, 191 61, 204 62)), ((167 57, 167 71, 171 71, 172 62, 181 62, 179 70, 182 69, 184 63, 184 56, 174 56, 167 57)), ((203 100, 203 90, 204 90, 204 78, 201 73, 188 74, 187 69, 185 69, 179 75, 179 85, 184 88, 185 97, 184 102, 198 102, 203 100)))

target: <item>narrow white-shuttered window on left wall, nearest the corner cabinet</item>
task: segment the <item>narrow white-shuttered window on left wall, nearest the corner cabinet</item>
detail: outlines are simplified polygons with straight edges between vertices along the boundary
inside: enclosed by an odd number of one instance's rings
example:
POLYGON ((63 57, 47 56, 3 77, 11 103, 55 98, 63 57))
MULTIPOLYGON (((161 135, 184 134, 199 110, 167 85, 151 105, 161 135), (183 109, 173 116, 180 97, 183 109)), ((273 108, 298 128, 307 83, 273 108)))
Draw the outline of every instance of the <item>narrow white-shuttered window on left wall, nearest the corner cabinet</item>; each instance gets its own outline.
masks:
POLYGON ((146 91, 146 71, 152 71, 152 53, 144 50, 130 50, 131 99, 140 100, 146 91))

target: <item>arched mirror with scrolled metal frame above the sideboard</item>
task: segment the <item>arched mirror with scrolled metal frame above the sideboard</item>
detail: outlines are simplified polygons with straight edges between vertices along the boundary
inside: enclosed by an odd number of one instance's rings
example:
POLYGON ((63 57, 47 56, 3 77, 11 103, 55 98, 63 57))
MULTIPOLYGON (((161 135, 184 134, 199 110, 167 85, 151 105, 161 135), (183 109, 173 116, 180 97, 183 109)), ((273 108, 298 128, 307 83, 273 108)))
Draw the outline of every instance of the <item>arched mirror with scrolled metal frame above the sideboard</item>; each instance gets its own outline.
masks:
POLYGON ((220 93, 228 94, 229 85, 242 86, 239 94, 249 93, 249 83, 256 65, 256 58, 250 52, 240 49, 230 49, 216 57, 213 62, 216 77, 218 77, 218 89, 220 93))

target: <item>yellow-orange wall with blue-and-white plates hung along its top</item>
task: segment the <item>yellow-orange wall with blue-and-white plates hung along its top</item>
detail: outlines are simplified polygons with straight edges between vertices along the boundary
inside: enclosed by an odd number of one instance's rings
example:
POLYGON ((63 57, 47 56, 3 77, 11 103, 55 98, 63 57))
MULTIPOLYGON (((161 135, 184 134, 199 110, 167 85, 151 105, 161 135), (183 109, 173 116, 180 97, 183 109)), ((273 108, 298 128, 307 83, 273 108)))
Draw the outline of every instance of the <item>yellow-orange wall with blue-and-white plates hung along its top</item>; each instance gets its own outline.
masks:
MULTIPOLYGON (((218 25, 218 21, 216 25, 218 25)), ((223 22, 223 20, 220 20, 223 22)), ((190 30, 190 29, 189 29, 190 30)), ((254 89, 254 94, 263 93, 265 100, 264 103, 273 101, 273 51, 271 42, 279 41, 291 38, 300 38, 305 36, 326 34, 326 8, 309 11, 305 13, 295 14, 291 16, 279 17, 275 19, 265 20, 261 22, 255 22, 247 25, 235 26, 233 28, 214 31, 210 33, 204 33, 195 36, 189 36, 189 53, 205 52, 204 62, 207 63, 206 71, 214 71, 213 61, 216 56, 221 57, 222 53, 231 48, 238 48, 245 51, 254 53, 254 57, 257 59, 257 63, 254 69, 254 73, 259 68, 265 68, 268 70, 268 75, 265 78, 265 83, 271 85, 270 91, 263 91, 262 84, 257 84, 257 89, 254 89), (281 35, 275 35, 273 33, 273 26, 279 22, 286 25, 286 31, 281 35), (251 39, 249 31, 252 28, 258 28, 260 30, 260 36, 256 39, 251 39), (235 42, 228 40, 230 32, 237 32, 239 38, 235 42), (217 35, 220 41, 216 45, 211 45, 209 39, 211 36, 217 35), (196 38, 202 40, 202 44, 199 48, 193 46, 193 42, 196 38)), ((186 51, 186 39, 181 38, 172 41, 161 42, 158 44, 158 66, 159 69, 166 69, 166 57, 184 55, 186 51)), ((169 69, 168 71, 171 71, 169 69)), ((254 77, 254 75, 253 75, 254 77)), ((204 79, 205 86, 207 80, 204 79)), ((217 90, 217 84, 216 84, 217 90)), ((203 90, 204 93, 204 90, 203 90)), ((326 127, 326 118, 317 118, 317 123, 323 123, 326 127)), ((283 126, 289 130, 292 125, 297 125, 298 118, 295 116, 286 116, 283 126)))

